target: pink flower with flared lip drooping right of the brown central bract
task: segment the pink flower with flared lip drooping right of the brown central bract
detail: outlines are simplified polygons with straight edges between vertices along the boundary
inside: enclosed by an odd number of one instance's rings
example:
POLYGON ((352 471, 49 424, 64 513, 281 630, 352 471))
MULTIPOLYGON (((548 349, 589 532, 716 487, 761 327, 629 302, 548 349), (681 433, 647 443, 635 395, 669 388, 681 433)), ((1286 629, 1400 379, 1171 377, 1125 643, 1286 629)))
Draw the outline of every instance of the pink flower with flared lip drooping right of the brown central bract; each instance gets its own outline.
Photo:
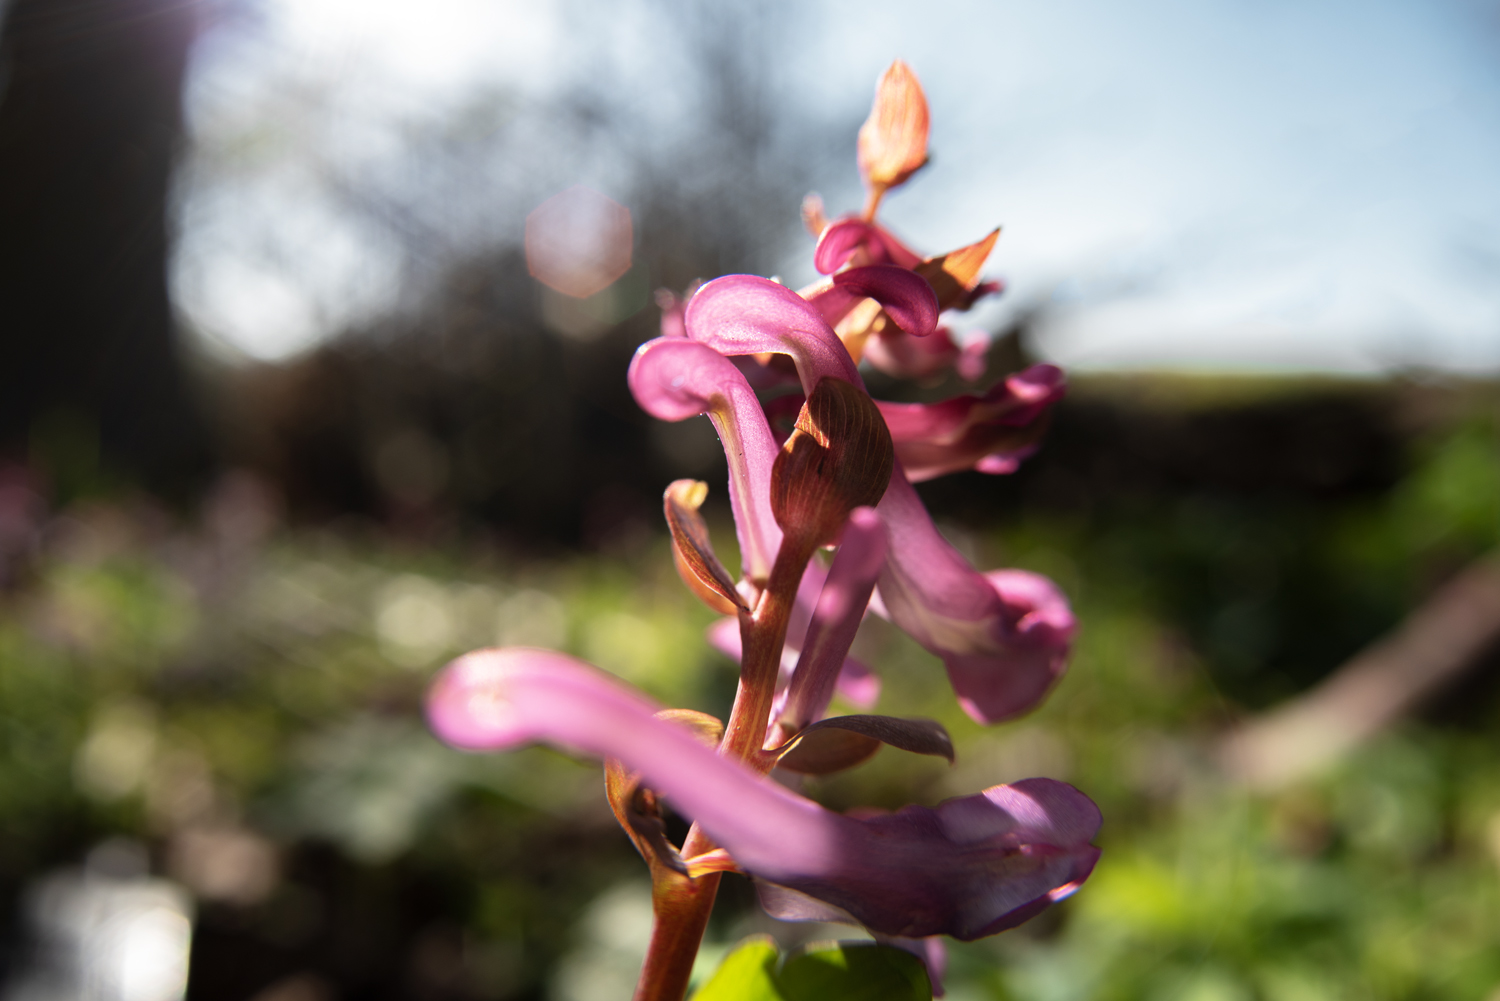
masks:
POLYGON ((986 576, 969 566, 938 533, 900 464, 878 510, 891 539, 879 584, 891 621, 942 657, 975 720, 1035 707, 1066 669, 1076 627, 1066 599, 1040 575, 986 576))

